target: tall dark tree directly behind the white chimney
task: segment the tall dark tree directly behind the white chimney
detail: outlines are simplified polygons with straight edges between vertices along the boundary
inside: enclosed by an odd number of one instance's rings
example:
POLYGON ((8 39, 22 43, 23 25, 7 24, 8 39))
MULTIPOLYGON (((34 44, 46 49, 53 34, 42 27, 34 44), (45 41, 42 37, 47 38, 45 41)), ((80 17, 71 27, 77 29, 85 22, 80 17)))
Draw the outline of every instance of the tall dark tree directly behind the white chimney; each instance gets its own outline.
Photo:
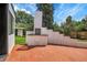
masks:
POLYGON ((37 10, 43 12, 43 26, 53 29, 53 6, 52 3, 37 3, 37 10))

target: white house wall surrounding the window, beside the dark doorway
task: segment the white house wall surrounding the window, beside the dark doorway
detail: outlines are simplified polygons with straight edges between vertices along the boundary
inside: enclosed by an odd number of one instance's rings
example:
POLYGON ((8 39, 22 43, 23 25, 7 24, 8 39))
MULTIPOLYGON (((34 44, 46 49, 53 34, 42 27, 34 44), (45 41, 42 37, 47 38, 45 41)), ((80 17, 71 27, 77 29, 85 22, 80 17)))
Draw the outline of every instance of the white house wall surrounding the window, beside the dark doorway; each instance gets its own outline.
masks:
POLYGON ((14 17, 14 11, 11 7, 11 4, 9 4, 9 11, 8 11, 8 54, 11 53, 13 46, 14 46, 14 26, 15 26, 15 17, 14 17), (12 17, 13 17, 13 33, 9 34, 9 11, 11 12, 12 17))

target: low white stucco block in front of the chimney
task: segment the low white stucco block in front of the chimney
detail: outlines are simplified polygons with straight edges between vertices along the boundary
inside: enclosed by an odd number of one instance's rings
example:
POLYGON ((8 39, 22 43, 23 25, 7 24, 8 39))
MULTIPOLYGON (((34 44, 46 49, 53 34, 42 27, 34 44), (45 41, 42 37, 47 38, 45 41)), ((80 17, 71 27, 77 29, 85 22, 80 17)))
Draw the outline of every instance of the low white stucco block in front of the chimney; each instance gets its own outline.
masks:
POLYGON ((31 45, 47 45, 47 36, 44 35, 26 35, 26 44, 31 45))

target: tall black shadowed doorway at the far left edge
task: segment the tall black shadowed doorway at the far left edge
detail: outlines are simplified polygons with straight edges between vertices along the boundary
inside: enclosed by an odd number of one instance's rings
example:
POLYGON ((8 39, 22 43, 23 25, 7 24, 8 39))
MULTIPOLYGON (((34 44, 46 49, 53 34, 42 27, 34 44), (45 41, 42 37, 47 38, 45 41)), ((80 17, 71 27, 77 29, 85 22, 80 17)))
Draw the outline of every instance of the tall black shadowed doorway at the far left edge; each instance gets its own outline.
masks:
POLYGON ((7 54, 7 4, 0 3, 0 55, 7 54))

